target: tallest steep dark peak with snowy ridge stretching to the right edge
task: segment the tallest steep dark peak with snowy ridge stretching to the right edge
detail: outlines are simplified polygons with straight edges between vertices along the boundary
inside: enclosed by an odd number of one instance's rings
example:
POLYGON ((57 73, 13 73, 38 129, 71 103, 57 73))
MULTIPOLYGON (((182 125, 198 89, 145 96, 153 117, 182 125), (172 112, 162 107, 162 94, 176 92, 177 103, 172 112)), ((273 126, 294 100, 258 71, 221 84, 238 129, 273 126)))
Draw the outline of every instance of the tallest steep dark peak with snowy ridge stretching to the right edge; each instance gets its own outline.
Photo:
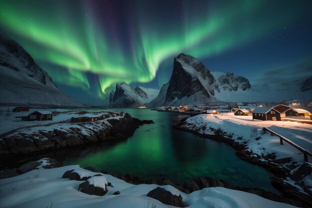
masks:
POLYGON ((281 102, 287 99, 312 100, 312 78, 262 79, 253 85, 242 76, 231 72, 210 72, 201 61, 180 53, 173 62, 168 83, 149 107, 228 102, 281 102))

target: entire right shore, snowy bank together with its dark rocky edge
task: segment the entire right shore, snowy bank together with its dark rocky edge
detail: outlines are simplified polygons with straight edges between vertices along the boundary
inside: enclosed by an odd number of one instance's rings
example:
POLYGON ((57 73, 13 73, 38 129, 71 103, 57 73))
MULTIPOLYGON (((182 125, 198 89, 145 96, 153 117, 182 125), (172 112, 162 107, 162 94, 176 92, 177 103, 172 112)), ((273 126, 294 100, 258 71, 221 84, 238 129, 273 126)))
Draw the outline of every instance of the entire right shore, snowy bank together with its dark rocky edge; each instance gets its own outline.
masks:
MULTIPOLYGON (((229 144, 237 150, 236 155, 242 160, 260 165, 275 174, 271 183, 284 197, 293 200, 302 199, 311 206, 312 164, 305 163, 303 154, 297 149, 287 144, 280 146, 279 139, 274 139, 271 134, 264 134, 262 131, 263 127, 278 128, 273 125, 275 124, 286 126, 285 129, 294 131, 299 129, 304 132, 305 137, 309 138, 312 135, 309 124, 259 123, 248 120, 247 116, 234 116, 231 113, 224 114, 223 117, 222 115, 188 117, 181 120, 174 128, 229 144), (298 178, 294 177, 296 172, 305 173, 298 178)), ((306 139, 302 135, 298 137, 306 139)))

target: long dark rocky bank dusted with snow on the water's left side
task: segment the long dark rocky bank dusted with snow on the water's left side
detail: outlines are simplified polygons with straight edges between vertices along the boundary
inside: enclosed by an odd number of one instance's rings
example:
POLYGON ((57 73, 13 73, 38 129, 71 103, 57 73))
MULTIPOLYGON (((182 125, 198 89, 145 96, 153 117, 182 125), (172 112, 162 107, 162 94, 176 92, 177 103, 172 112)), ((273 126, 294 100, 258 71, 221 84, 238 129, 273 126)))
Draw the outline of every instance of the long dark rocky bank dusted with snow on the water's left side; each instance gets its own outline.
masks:
POLYGON ((143 124, 153 121, 140 121, 128 113, 111 112, 106 119, 94 122, 81 122, 75 125, 52 126, 50 130, 36 130, 24 133, 22 130, 0 138, 0 156, 25 155, 33 152, 71 147, 106 139, 127 138, 143 124))

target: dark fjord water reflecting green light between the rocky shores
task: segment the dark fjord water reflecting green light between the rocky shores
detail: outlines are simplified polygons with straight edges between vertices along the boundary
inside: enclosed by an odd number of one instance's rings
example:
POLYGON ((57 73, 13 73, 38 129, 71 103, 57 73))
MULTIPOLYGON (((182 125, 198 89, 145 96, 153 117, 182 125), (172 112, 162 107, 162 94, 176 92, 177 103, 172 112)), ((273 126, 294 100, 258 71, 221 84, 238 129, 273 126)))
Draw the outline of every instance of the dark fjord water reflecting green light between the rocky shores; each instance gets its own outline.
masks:
POLYGON ((233 186, 276 192, 271 185, 272 174, 239 159, 232 147, 173 129, 172 125, 186 115, 150 109, 107 111, 128 112, 135 118, 155 123, 141 126, 128 139, 107 140, 66 150, 65 154, 56 153, 55 158, 64 165, 91 166, 117 175, 132 174, 145 180, 166 178, 183 184, 187 180, 208 176, 225 180, 233 186), (60 154, 62 157, 58 157, 60 154))

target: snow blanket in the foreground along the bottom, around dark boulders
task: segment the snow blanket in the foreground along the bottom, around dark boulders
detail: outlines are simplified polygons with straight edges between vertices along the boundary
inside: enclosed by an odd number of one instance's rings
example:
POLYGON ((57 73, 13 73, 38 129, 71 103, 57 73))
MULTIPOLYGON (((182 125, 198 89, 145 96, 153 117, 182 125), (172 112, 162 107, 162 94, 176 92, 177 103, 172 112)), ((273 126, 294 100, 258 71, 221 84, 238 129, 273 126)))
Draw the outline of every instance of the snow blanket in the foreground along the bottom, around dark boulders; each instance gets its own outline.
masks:
MULTIPOLYGON (((75 169, 89 172, 78 165, 54 169, 33 170, 23 175, 0 180, 1 208, 171 208, 147 197, 157 185, 132 185, 111 175, 104 175, 112 186, 103 197, 78 191, 83 181, 61 179, 62 175, 75 169), (113 195, 119 191, 120 195, 113 195)), ((104 178, 104 177, 103 177, 104 178)), ((225 188, 205 188, 185 194, 171 186, 160 186, 173 195, 181 195, 189 208, 295 208, 270 201, 257 195, 225 188)), ((173 208, 173 207, 172 207, 173 208)))

